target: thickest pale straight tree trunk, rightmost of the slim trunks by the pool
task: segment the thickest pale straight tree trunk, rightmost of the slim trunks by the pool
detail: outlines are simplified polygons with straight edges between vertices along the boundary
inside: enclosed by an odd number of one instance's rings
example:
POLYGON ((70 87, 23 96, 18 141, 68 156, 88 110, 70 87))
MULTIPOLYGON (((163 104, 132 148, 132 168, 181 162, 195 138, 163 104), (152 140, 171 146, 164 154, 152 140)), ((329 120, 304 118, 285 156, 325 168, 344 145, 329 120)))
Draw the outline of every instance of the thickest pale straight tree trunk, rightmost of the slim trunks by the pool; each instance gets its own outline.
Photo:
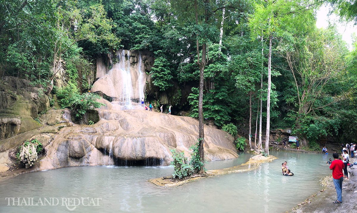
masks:
POLYGON ((271 40, 269 35, 269 55, 268 55, 268 94, 267 94, 267 125, 265 133, 265 152, 269 155, 269 136, 270 136, 270 90, 271 90, 271 40))

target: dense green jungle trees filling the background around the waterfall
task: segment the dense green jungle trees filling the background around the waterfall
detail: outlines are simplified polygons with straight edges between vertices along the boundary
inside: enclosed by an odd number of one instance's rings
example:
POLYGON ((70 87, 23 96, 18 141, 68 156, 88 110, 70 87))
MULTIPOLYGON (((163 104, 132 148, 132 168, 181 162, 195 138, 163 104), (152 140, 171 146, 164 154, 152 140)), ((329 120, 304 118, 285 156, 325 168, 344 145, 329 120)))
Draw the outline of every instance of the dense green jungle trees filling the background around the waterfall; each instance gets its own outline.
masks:
POLYGON ((175 114, 198 117, 202 69, 207 122, 254 136, 262 112, 262 133, 357 141, 357 37, 349 48, 336 26, 317 28, 322 4, 357 23, 357 1, 343 0, 3 0, 0 74, 56 94, 65 62, 66 89, 82 93, 99 55, 151 51, 147 99, 167 94, 175 114))

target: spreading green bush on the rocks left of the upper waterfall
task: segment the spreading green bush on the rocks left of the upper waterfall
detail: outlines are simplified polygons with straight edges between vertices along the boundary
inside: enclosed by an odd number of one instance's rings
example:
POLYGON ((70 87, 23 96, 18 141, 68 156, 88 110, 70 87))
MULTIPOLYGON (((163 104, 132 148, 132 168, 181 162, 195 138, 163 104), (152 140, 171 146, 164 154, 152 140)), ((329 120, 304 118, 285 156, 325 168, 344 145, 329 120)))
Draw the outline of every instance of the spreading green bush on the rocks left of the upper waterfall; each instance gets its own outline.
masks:
POLYGON ((100 98, 99 95, 94 93, 79 94, 75 88, 60 89, 56 95, 61 107, 69 108, 77 118, 82 118, 88 110, 104 106, 104 104, 97 102, 97 99, 100 98))

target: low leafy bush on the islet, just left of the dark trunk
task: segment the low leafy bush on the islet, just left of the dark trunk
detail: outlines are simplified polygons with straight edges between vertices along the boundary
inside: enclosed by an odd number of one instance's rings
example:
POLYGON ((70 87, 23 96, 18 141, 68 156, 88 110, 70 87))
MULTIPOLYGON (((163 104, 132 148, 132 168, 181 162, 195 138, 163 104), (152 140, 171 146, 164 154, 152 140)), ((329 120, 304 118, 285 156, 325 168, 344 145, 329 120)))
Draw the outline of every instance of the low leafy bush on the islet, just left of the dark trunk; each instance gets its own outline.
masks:
POLYGON ((173 159, 170 165, 174 166, 174 173, 172 173, 172 176, 181 179, 191 175, 193 168, 186 163, 188 160, 187 157, 185 157, 184 152, 178 152, 175 149, 171 149, 170 151, 173 159))

